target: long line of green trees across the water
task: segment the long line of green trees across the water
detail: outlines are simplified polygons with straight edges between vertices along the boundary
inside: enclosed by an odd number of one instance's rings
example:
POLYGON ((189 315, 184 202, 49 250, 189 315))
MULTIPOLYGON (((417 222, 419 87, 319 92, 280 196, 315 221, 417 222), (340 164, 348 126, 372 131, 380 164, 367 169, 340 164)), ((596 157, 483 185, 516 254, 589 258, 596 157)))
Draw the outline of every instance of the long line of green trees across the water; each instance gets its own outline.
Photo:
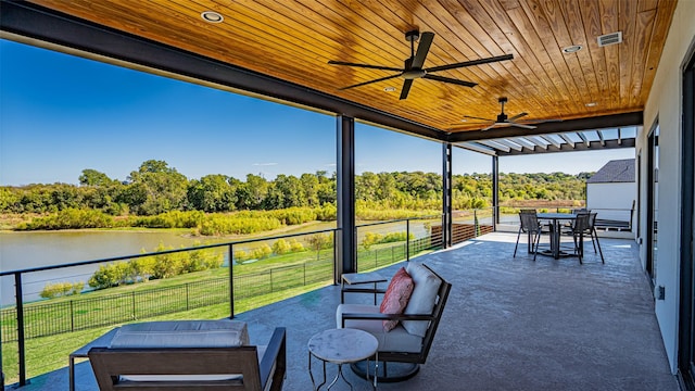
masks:
MULTIPOLYGON (((501 174, 501 201, 583 200, 589 173, 501 174)), ((156 216, 175 211, 226 213, 323 207, 336 203, 336 174, 278 175, 267 180, 249 174, 245 181, 212 174, 188 179, 164 161, 149 160, 126 180, 87 168, 79 185, 51 184, 0 187, 0 213, 55 213, 93 210, 110 216, 156 216)), ((490 174, 453 176, 453 203, 458 210, 491 204, 490 174)), ((434 173, 363 173, 355 176, 357 209, 439 210, 442 179, 434 173)))

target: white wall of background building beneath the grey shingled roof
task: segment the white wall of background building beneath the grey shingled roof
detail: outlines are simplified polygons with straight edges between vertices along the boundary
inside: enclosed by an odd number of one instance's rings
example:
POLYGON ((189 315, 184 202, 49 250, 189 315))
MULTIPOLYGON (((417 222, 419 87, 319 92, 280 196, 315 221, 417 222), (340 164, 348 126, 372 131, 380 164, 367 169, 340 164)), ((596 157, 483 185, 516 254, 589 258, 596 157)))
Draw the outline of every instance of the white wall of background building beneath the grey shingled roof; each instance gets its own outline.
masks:
POLYGON ((586 184, 586 209, 599 219, 629 222, 636 197, 635 182, 586 184))

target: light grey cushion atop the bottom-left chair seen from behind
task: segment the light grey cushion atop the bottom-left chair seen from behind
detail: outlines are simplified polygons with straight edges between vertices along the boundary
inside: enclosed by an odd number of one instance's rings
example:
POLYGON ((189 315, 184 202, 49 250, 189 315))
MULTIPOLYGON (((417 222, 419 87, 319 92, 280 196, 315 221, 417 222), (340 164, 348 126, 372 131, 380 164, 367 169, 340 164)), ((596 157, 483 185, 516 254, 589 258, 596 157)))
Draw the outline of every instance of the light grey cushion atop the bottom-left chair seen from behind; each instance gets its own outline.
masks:
POLYGON ((249 344, 237 320, 166 320, 125 325, 109 348, 233 348, 249 344))

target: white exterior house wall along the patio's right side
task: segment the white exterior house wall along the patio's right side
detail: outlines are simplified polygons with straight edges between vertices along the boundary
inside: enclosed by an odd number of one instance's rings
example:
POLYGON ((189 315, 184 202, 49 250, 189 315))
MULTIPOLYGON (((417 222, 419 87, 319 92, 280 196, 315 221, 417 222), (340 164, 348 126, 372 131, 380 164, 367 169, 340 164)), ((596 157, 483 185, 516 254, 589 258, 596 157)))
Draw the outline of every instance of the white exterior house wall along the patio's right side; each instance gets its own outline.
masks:
MULTIPOLYGON (((678 319, 679 319, 679 264, 681 218, 681 113, 683 62, 695 38, 695 0, 680 0, 667 36, 664 52, 656 72, 654 85, 644 110, 644 127, 637 137, 636 151, 642 151, 642 178, 647 178, 647 135, 657 117, 659 136, 659 250, 656 260, 656 286, 666 288, 666 299, 656 301, 656 317, 659 323, 666 353, 675 374, 678 369, 678 319)), ((646 180, 645 180, 646 181, 646 180)), ((641 191, 640 255, 646 260, 646 189, 641 191)))

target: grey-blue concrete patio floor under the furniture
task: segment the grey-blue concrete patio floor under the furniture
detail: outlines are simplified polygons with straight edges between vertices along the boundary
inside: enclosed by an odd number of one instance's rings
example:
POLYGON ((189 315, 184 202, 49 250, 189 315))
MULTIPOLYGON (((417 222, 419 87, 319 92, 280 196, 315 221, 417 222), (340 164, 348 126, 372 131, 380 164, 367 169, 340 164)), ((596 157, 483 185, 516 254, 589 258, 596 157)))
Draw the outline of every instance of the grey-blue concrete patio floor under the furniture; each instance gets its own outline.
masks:
MULTIPOLYGON (((380 383, 380 390, 679 389, 634 241, 602 238, 605 265, 589 243, 580 265, 576 257, 533 262, 525 243, 513 258, 515 240, 516 232, 490 234, 413 261, 452 282, 452 292, 427 364, 413 379, 380 383)), ((336 327, 339 290, 331 286, 237 316, 249 324, 252 343, 287 327, 285 390, 312 389, 306 344, 336 327)), ((329 376, 334 370, 329 365, 329 376)), ((345 373, 356 390, 369 389, 345 373)), ((89 364, 78 364, 77 390, 96 389, 89 364)), ((332 389, 349 387, 339 381, 332 389)), ((67 390, 67 368, 21 390, 67 390)))

